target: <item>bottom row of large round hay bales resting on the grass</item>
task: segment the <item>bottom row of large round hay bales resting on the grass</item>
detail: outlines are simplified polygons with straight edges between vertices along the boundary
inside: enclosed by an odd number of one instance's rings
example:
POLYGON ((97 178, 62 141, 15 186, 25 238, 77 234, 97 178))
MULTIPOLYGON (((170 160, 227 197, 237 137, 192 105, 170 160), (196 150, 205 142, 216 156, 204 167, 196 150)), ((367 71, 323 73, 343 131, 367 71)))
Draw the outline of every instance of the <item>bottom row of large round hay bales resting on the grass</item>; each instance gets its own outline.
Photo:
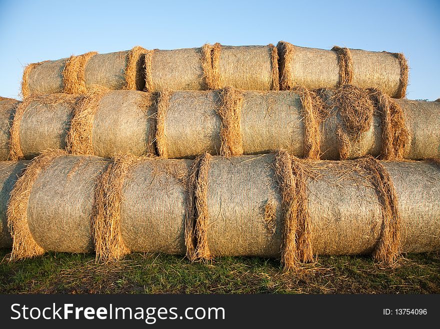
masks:
POLYGON ((283 151, 113 161, 56 151, 0 162, 0 186, 0 246, 13 244, 14 259, 96 250, 103 260, 139 251, 295 261, 308 260, 304 248, 440 250, 436 161, 305 161, 283 151))

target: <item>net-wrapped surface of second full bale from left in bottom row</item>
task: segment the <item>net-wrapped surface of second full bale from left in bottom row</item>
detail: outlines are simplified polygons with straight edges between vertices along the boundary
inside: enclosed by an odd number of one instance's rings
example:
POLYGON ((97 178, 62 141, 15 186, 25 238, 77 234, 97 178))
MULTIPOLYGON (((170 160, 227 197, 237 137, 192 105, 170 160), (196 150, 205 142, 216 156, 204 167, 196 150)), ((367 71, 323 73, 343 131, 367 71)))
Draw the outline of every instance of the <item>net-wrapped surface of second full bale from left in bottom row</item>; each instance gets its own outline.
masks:
POLYGON ((120 234, 130 251, 186 253, 191 160, 144 159, 122 185, 120 234))

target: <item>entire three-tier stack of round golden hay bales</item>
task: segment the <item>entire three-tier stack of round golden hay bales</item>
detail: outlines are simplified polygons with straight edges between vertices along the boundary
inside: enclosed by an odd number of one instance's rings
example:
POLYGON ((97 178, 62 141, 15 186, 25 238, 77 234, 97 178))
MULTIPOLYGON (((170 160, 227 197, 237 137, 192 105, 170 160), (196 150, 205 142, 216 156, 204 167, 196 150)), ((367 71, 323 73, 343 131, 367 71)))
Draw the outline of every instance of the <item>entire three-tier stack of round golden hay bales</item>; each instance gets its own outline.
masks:
POLYGON ((401 54, 285 42, 31 64, 0 99, 0 246, 289 269, 440 250, 440 103, 407 79, 401 54))

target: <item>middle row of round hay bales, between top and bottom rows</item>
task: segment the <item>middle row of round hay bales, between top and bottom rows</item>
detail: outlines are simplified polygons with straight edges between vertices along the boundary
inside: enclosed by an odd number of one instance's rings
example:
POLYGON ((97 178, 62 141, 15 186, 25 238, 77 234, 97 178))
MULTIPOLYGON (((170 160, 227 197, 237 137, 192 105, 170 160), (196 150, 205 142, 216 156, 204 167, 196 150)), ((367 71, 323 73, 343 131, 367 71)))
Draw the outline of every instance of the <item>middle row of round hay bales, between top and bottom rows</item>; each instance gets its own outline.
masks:
POLYGON ((293 91, 100 91, 0 101, 0 160, 49 149, 111 158, 250 155, 440 157, 440 103, 351 86, 293 91), (11 131, 9 133, 9 127, 11 131))

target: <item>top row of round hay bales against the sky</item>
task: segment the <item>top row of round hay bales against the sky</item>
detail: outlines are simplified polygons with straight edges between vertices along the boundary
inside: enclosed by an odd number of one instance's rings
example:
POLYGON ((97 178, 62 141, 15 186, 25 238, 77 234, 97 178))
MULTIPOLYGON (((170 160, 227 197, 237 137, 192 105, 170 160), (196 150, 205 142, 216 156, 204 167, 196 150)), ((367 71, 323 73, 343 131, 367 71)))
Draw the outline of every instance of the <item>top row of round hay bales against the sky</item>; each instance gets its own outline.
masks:
POLYGON ((91 90, 241 90, 335 88, 351 84, 405 96, 408 66, 402 54, 333 47, 203 45, 200 48, 89 52, 24 69, 22 96, 84 94, 91 90))

